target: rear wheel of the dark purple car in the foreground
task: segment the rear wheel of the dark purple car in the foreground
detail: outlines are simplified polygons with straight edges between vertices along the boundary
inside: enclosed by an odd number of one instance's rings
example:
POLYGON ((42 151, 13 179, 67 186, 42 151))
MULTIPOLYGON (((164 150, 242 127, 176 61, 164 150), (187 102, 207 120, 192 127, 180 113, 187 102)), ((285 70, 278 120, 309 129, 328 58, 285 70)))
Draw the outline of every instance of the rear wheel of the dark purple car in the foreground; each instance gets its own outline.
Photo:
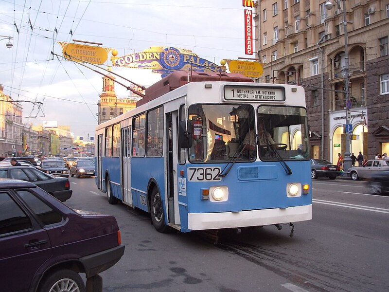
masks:
POLYGON ((81 276, 71 270, 59 270, 43 279, 38 292, 85 292, 81 276))

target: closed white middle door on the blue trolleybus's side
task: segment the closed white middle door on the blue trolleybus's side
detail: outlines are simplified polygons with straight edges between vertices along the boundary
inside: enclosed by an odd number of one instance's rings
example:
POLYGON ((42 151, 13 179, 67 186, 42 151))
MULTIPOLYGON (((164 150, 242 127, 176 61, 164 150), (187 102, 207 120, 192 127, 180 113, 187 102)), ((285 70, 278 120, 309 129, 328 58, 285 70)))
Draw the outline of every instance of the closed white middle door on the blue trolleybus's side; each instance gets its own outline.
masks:
POLYGON ((131 126, 122 128, 122 194, 123 202, 132 206, 131 196, 131 126))

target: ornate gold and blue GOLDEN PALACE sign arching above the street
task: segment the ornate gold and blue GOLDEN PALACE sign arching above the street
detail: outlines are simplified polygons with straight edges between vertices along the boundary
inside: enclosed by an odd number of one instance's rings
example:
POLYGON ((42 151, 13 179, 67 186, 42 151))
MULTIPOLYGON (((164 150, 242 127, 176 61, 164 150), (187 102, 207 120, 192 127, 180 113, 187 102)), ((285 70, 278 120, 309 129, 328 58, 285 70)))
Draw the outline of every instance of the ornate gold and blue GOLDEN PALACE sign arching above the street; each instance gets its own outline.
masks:
POLYGON ((173 71, 219 72, 220 66, 202 59, 190 50, 174 47, 151 47, 140 53, 112 57, 115 67, 152 69, 153 72, 169 74, 173 71))

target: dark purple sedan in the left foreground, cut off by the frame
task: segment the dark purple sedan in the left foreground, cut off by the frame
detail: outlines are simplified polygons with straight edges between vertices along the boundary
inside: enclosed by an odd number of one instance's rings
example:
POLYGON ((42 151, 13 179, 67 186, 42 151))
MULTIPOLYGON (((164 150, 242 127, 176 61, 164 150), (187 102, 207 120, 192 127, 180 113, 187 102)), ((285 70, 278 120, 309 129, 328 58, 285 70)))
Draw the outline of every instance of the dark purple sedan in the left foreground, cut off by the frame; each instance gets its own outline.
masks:
POLYGON ((1 291, 103 291, 124 254, 115 217, 75 211, 35 184, 0 179, 1 291))

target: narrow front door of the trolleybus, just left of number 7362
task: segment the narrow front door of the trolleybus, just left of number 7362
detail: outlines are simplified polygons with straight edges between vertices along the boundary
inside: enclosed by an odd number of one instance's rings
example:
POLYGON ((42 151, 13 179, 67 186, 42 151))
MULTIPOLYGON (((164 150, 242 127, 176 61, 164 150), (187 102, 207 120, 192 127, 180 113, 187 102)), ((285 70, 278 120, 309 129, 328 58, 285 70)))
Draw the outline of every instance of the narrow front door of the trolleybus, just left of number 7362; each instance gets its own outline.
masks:
POLYGON ((167 120, 167 193, 168 193, 168 218, 170 223, 180 224, 178 211, 178 188, 177 188, 177 121, 178 111, 166 114, 167 120))

